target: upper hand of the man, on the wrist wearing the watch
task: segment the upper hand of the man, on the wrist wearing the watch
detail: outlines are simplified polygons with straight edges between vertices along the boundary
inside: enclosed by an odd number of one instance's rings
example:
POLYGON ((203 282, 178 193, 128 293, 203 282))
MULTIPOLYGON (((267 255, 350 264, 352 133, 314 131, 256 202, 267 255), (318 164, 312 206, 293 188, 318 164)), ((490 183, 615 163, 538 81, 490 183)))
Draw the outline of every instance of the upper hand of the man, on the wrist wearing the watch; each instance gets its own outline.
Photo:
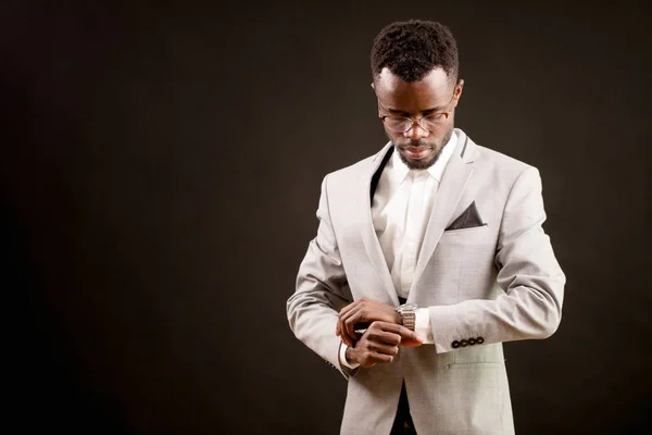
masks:
POLYGON ((361 298, 341 309, 335 335, 341 336, 347 346, 353 346, 360 339, 360 334, 355 333, 355 330, 368 327, 375 321, 403 324, 401 314, 396 311, 396 307, 361 298))

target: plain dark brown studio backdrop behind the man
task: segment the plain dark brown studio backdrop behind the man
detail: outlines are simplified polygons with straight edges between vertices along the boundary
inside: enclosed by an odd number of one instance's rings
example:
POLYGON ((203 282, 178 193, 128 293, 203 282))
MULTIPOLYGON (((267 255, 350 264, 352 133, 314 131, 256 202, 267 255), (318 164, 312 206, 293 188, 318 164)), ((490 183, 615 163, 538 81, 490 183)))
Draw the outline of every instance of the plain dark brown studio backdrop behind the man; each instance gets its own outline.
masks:
POLYGON ((650 15, 475 3, 3 1, 4 424, 337 433, 285 301, 322 177, 385 144, 373 38, 421 17, 457 126, 541 171, 568 277, 559 332, 505 346, 518 433, 647 432, 650 15))

